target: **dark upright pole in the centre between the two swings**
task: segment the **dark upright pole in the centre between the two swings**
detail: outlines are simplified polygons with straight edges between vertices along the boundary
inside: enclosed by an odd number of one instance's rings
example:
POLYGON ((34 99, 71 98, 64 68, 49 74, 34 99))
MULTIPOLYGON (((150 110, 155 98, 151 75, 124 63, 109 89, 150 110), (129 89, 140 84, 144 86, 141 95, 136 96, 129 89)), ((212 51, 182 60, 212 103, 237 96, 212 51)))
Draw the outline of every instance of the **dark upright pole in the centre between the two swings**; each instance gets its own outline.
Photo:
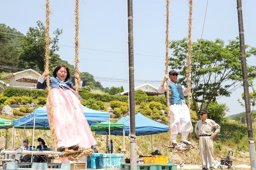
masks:
POLYGON ((134 52, 133 52, 133 1, 128 0, 128 53, 129 53, 129 112, 130 112, 130 169, 137 169, 137 144, 134 106, 134 52))

